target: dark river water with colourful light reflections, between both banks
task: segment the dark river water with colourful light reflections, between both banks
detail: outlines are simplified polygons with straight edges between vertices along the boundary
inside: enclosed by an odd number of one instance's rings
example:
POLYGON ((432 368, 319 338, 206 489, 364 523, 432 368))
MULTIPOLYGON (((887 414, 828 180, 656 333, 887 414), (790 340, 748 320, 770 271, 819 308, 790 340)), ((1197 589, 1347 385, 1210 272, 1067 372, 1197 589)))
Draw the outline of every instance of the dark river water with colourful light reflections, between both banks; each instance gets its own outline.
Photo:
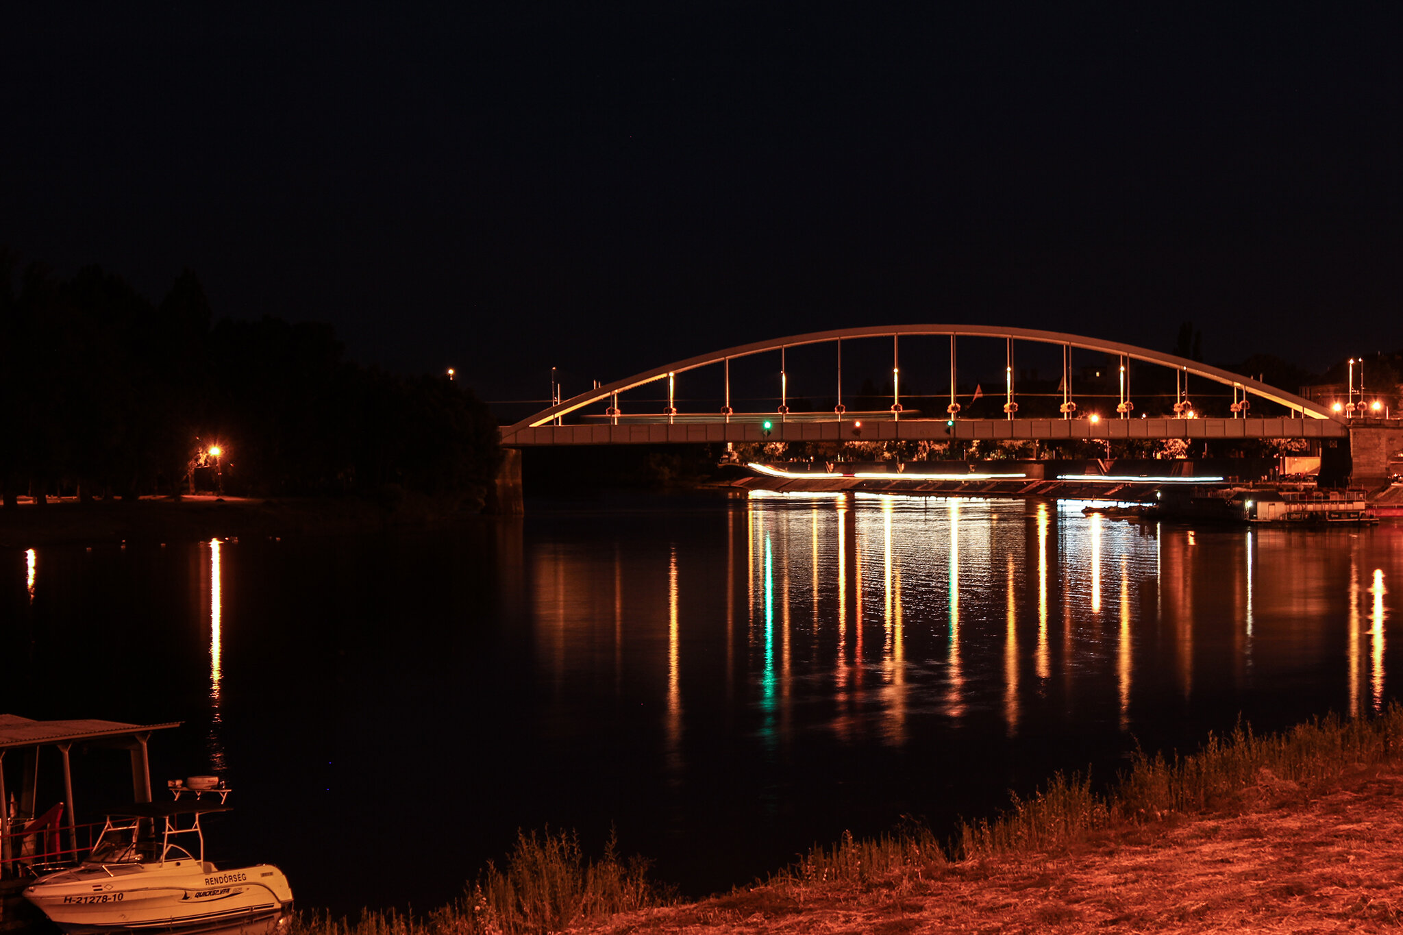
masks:
MULTIPOLYGON (((1136 746, 1365 715, 1403 664, 1392 521, 863 495, 528 509, 3 554, 0 712, 184 721, 153 737, 153 778, 226 777, 212 856, 354 913, 442 904, 546 826, 589 848, 612 827, 703 894, 845 830, 948 831, 1056 770, 1107 781, 1136 746)), ((74 757, 80 819, 123 770, 74 757)))

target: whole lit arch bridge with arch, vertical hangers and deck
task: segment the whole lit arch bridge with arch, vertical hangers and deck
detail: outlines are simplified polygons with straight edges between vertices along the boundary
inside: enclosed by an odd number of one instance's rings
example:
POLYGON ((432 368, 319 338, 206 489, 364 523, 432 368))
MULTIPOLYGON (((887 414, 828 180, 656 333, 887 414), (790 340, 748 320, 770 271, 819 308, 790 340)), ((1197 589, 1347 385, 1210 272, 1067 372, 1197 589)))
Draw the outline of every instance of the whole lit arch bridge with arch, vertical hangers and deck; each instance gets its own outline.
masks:
MULTIPOLYGON (((1000 393, 995 390, 993 393, 1000 393)), ((989 395, 993 395, 989 394, 989 395)), ((962 394, 969 401, 968 393, 962 394)), ((843 328, 790 335, 724 350, 687 357, 652 367, 623 380, 595 387, 570 400, 558 401, 515 425, 502 428, 506 447, 553 444, 652 444, 685 442, 895 442, 895 440, 1118 440, 1118 439, 1344 439, 1350 428, 1317 402, 1260 383, 1243 374, 1160 353, 1148 348, 1100 341, 1082 335, 1028 328, 993 325, 884 325, 843 328), (904 415, 901 397, 901 339, 905 336, 948 336, 950 393, 944 418, 904 415), (850 412, 843 405, 843 342, 890 338, 892 349, 892 402, 880 412, 850 412), (1002 339, 1006 348, 1002 418, 962 418, 964 404, 958 390, 958 339, 1002 339), (1058 387, 1059 416, 1020 418, 1019 393, 1014 385, 1014 342, 1055 345, 1062 350, 1062 381, 1058 387), (838 405, 831 412, 791 412, 786 352, 805 345, 835 343, 835 388, 838 405), (1078 408, 1073 391, 1072 350, 1092 350, 1120 359, 1120 394, 1115 415, 1101 418, 1078 408), (760 353, 779 352, 780 405, 773 412, 737 412, 731 408, 731 362, 760 353), (1129 387, 1131 362, 1166 367, 1176 374, 1176 398, 1172 414, 1135 414, 1129 387), (676 378, 683 373, 714 367, 718 411, 680 412, 675 405, 676 378), (1188 378, 1195 377, 1232 390, 1230 418, 1201 418, 1188 395, 1188 378), (619 395, 650 384, 666 385, 666 405, 658 412, 624 414, 619 395), (1284 415, 1260 418, 1251 414, 1251 401, 1264 400, 1284 409, 1284 415), (605 407, 602 412, 586 412, 605 407), (584 421, 571 421, 584 419, 584 421)))

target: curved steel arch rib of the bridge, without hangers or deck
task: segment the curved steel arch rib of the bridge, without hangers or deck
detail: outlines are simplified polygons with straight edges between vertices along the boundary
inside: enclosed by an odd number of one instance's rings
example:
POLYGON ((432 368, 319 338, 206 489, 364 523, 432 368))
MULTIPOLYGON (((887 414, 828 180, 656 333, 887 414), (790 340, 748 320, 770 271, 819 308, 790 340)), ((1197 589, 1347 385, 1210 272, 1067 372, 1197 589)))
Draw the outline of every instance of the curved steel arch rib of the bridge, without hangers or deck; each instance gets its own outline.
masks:
MULTIPOLYGON (((906 335, 934 335, 934 336, 948 336, 951 342, 955 338, 1002 338, 1009 341, 1031 341, 1035 343, 1061 345, 1068 349, 1078 350, 1094 350, 1100 353, 1111 353, 1127 357, 1128 360, 1142 360, 1145 363, 1159 364, 1163 367, 1172 367, 1180 370, 1186 374, 1195 377, 1204 377, 1215 383, 1235 387, 1243 391, 1243 397, 1247 394, 1268 400, 1278 405, 1299 414, 1301 418, 1310 419, 1330 419, 1338 423, 1331 412, 1320 407, 1310 400, 1298 397, 1294 393, 1287 393, 1270 384, 1253 380, 1240 373, 1232 373, 1230 370, 1222 370, 1221 367, 1212 367, 1197 360, 1188 360, 1186 357, 1177 357, 1169 353, 1160 353, 1159 350, 1150 350, 1149 348, 1139 348, 1136 345, 1120 343, 1115 341, 1100 341, 1097 338, 1087 338, 1083 335, 1072 335, 1059 331, 1038 331, 1033 328, 1003 328, 998 325, 874 325, 867 328, 839 328, 833 331, 814 331, 803 335, 790 335, 786 338, 774 338, 770 341, 758 341, 753 343, 738 345, 735 348, 727 348, 724 350, 716 350, 711 353, 697 355, 694 357, 687 357, 685 360, 678 360, 675 363, 664 364, 661 367, 652 367, 644 370, 631 377, 624 377, 623 380, 616 380, 613 383, 586 390, 570 400, 553 405, 547 409, 542 409, 536 415, 528 416, 521 422, 511 426, 502 428, 502 443, 512 444, 513 436, 525 432, 526 429, 536 429, 540 426, 550 425, 560 416, 570 415, 595 402, 602 402, 606 400, 616 398, 617 394, 626 393, 629 390, 636 390, 638 387, 647 385, 650 383, 658 383, 661 380, 668 380, 679 373, 686 373, 687 370, 696 370, 699 367, 706 367, 718 363, 728 363, 738 357, 749 357, 758 353, 766 353, 772 350, 783 350, 786 348, 797 348, 803 345, 838 342, 854 338, 902 338, 906 335)), ((951 383, 954 383, 954 373, 951 373, 951 383)), ((717 421, 724 419, 724 415, 717 414, 717 421)), ((1315 433, 1312 433, 1315 435, 1315 433)))

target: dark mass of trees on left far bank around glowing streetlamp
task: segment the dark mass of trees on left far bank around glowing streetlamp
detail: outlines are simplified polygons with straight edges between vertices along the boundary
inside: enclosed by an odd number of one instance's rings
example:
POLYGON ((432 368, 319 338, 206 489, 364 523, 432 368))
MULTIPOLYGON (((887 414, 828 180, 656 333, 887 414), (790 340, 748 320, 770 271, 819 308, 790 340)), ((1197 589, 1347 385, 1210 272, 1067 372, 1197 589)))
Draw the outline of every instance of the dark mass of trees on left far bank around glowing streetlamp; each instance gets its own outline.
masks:
POLYGON ((206 491, 369 500, 488 495, 497 421, 449 374, 345 359, 317 322, 219 318, 191 271, 152 301, 0 247, 0 512, 206 491))

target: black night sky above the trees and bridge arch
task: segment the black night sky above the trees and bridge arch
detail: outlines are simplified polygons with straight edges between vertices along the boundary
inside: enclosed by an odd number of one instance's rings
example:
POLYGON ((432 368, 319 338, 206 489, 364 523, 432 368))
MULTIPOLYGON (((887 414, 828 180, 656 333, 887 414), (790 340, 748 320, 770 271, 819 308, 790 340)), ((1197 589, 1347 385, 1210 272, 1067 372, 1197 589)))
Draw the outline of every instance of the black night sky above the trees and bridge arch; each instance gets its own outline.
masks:
MULTIPOLYGON (((488 398, 819 328, 1403 346, 1396 3, 11 4, 0 244, 488 398)), ((579 390, 581 385, 567 385, 579 390)))

